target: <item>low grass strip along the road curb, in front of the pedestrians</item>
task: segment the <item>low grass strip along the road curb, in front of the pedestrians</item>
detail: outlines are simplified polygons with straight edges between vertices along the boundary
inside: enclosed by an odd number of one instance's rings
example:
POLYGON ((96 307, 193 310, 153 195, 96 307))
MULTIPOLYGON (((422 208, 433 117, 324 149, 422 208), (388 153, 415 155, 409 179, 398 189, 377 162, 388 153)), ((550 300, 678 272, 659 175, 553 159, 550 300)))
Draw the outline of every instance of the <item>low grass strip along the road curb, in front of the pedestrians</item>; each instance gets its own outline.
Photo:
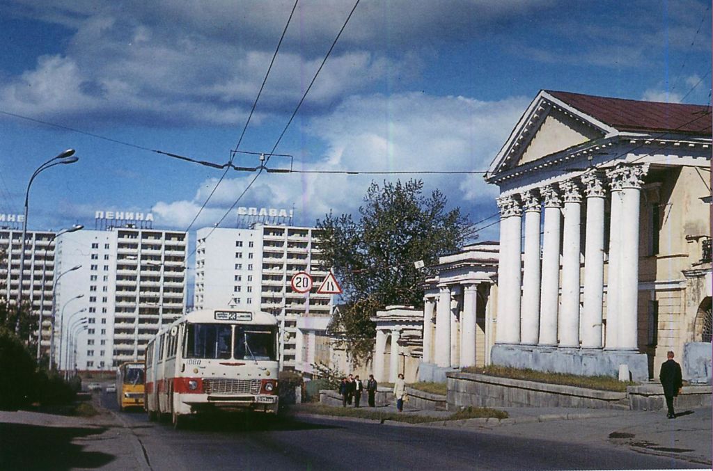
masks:
POLYGON ((508 413, 503 410, 491 408, 466 408, 459 410, 456 413, 447 417, 436 417, 432 415, 418 415, 414 413, 394 413, 380 410, 356 409, 356 408, 340 408, 332 405, 323 404, 302 404, 299 406, 301 412, 307 412, 317 415, 332 415, 333 417, 354 417, 367 420, 393 420, 394 422, 405 423, 429 423, 443 422, 443 420, 464 420, 471 418, 498 418, 504 419, 508 417, 508 413))

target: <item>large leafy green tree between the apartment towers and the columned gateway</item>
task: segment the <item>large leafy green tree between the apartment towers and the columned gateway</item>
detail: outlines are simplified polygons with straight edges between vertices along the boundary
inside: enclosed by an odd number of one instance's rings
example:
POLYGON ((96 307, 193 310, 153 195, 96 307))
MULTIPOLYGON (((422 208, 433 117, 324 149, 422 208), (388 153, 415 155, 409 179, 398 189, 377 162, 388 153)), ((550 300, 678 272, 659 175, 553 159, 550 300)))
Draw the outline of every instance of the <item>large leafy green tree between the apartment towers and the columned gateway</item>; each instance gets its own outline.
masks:
POLYGON ((359 220, 351 214, 327 214, 317 220, 322 263, 342 284, 345 305, 331 324, 347 342, 355 363, 369 358, 375 326, 370 320, 389 305, 423 306, 426 266, 458 250, 475 232, 460 208, 447 210, 446 197, 435 190, 423 195, 424 183, 409 180, 371 182, 359 207, 359 220))

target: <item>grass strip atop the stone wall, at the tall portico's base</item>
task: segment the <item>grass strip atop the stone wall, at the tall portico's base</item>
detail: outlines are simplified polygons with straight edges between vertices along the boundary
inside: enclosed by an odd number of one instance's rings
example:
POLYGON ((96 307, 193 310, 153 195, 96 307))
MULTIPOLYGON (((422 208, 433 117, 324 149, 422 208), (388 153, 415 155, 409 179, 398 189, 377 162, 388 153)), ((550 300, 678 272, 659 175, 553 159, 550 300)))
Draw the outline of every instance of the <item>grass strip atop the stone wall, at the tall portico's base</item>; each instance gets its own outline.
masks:
POLYGON ((619 381, 617 378, 610 376, 577 376, 565 373, 544 373, 542 371, 508 368, 505 366, 486 366, 484 368, 470 367, 464 368, 463 371, 466 373, 498 376, 499 378, 536 381, 538 383, 559 384, 578 388, 615 391, 618 393, 625 393, 627 386, 639 384, 634 381, 619 381))

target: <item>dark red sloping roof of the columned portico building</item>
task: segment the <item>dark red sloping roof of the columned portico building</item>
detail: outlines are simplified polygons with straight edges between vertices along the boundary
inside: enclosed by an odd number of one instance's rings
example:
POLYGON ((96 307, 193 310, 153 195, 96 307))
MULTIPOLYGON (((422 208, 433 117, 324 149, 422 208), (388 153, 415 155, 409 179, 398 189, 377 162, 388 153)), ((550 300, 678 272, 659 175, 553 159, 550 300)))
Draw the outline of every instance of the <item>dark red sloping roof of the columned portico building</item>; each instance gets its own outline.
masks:
POLYGON ((624 100, 545 90, 573 108, 620 131, 655 131, 710 136, 711 107, 624 100))

